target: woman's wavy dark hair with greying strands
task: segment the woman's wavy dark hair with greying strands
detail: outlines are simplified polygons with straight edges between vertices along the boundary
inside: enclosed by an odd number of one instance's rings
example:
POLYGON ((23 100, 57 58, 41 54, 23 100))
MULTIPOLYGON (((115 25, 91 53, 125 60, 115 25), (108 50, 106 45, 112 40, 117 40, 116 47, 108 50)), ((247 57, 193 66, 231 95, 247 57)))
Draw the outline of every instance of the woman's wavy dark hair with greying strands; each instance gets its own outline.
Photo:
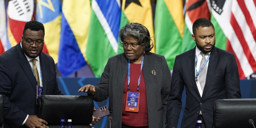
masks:
POLYGON ((154 46, 153 42, 151 43, 152 39, 150 38, 150 33, 148 31, 148 28, 146 28, 140 23, 131 22, 129 24, 126 24, 126 26, 121 28, 121 30, 119 31, 118 36, 121 40, 120 41, 121 44, 124 42, 124 38, 126 36, 136 38, 138 40, 138 44, 143 46, 143 50, 146 53, 150 52, 154 46), (127 27, 131 28, 132 30, 126 31, 127 27), (139 32, 136 32, 136 30, 134 29, 139 30, 139 32))

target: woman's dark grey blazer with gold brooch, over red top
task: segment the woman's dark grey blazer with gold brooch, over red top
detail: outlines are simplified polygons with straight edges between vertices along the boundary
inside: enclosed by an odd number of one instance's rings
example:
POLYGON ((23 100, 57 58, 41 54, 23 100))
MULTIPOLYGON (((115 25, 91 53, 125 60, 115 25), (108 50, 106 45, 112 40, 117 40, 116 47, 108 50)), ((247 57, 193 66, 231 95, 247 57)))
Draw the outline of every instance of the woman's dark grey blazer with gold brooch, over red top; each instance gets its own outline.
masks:
MULTIPOLYGON (((109 58, 93 96, 95 101, 102 101, 109 97, 109 116, 113 118, 111 123, 113 128, 121 128, 127 66, 128 60, 125 54, 109 58)), ((143 73, 146 84, 148 126, 149 128, 163 128, 171 83, 170 70, 164 56, 154 53, 145 54, 143 73), (152 70, 156 72, 156 76, 152 75, 152 70)))

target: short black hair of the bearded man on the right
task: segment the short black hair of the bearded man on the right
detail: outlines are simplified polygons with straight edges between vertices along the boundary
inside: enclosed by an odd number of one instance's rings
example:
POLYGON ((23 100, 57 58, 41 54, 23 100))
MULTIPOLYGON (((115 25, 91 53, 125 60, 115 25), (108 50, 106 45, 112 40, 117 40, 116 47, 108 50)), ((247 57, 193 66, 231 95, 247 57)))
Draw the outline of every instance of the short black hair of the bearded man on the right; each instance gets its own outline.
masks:
POLYGON ((214 26, 210 20, 206 18, 198 18, 192 26, 193 34, 195 34, 196 29, 199 27, 210 27, 210 26, 212 26, 212 28, 214 29, 214 26))

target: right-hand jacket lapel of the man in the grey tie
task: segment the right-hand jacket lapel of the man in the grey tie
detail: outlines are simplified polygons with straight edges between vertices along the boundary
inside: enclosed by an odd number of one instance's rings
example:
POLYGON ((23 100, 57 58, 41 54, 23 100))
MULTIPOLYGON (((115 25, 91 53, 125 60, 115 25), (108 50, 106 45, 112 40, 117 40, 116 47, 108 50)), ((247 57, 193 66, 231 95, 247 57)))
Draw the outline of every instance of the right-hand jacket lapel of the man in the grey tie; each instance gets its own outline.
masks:
POLYGON ((208 64, 208 68, 207 68, 206 83, 205 83, 205 86, 204 86, 204 92, 203 92, 202 98, 204 98, 206 92, 208 92, 208 90, 211 86, 212 77, 214 77, 213 74, 214 74, 214 71, 216 69, 217 62, 218 62, 218 52, 217 52, 216 48, 214 47, 212 49, 209 64, 208 64))

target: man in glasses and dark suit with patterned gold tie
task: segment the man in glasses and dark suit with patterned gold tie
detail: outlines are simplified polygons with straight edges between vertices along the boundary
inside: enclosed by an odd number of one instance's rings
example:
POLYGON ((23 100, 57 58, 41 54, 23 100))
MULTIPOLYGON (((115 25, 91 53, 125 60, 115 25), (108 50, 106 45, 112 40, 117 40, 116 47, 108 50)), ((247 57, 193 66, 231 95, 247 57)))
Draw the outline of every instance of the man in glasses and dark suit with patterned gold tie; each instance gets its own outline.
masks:
POLYGON ((54 60, 42 52, 43 46, 43 24, 30 21, 24 27, 20 43, 0 56, 4 128, 48 128, 47 122, 36 116, 36 99, 42 94, 63 94, 58 88, 54 60))

